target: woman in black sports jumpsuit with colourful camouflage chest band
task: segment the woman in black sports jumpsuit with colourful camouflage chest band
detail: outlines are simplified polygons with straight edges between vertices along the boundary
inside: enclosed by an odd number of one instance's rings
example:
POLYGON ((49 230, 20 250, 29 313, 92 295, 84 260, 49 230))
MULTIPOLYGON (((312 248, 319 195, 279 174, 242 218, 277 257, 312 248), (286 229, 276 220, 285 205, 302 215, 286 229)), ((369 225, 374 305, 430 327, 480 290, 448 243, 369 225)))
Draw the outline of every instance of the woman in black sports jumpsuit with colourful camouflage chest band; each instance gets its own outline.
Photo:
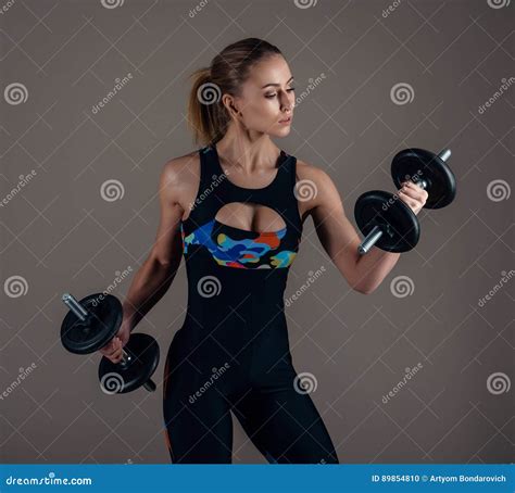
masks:
MULTIPOLYGON (((297 384, 282 302, 288 270, 310 215, 361 293, 379 286, 399 254, 373 249, 360 257, 360 238, 329 176, 271 140, 290 132, 294 106, 278 48, 243 39, 193 75, 189 124, 206 146, 165 164, 155 244, 130 286, 117 338, 101 352, 120 362, 184 253, 188 311, 163 382, 172 462, 230 463, 233 412, 271 463, 338 463, 311 396, 297 384), (316 193, 305 198, 302 186, 316 193)), ((399 197, 418 213, 427 193, 410 182, 399 197)))

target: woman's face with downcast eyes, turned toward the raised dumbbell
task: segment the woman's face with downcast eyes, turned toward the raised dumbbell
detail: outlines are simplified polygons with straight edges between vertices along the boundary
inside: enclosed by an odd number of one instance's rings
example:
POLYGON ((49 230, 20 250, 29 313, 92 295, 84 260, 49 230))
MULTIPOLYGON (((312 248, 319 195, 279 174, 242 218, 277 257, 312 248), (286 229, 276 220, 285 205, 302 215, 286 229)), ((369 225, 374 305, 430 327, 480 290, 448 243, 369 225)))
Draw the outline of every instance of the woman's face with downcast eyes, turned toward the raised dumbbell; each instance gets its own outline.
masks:
POLYGON ((293 119, 293 77, 281 55, 267 56, 256 63, 237 98, 227 102, 241 113, 237 115, 248 130, 286 137, 293 119), (280 121, 288 119, 281 123, 280 121))

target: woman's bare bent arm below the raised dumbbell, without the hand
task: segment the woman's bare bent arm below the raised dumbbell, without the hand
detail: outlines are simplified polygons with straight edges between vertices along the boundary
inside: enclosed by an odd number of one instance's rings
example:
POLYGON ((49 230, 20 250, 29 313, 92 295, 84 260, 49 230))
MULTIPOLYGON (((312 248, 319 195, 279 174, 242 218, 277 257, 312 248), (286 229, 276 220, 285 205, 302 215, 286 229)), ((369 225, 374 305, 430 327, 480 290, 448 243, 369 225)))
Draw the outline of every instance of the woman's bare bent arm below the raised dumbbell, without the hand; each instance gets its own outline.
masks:
POLYGON ((357 253, 361 239, 346 215, 340 194, 322 169, 306 169, 315 182, 317 193, 310 204, 310 214, 318 239, 331 261, 355 291, 373 292, 393 268, 399 253, 389 253, 374 246, 366 255, 357 253))

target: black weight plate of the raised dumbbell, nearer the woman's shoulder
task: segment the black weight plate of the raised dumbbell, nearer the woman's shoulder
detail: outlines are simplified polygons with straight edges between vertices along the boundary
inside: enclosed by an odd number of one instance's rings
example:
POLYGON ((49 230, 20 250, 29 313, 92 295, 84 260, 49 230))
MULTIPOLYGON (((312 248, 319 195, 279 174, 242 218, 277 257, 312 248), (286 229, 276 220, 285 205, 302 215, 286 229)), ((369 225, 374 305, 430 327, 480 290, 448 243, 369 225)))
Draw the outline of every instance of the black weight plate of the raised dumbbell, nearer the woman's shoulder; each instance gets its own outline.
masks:
POLYGON ((387 252, 407 252, 420 238, 420 227, 413 211, 399 197, 384 190, 361 194, 354 206, 354 218, 365 237, 374 226, 386 228, 375 244, 387 252))

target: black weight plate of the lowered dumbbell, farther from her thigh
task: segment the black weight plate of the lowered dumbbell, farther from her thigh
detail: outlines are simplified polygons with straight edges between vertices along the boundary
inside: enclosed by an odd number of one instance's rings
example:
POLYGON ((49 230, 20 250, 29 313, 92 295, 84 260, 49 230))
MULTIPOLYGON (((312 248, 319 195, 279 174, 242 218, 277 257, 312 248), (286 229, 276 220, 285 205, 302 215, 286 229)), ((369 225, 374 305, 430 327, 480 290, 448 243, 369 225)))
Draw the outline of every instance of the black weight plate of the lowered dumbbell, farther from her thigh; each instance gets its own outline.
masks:
POLYGON ((123 318, 122 303, 112 294, 103 293, 89 294, 79 303, 91 316, 83 323, 70 311, 61 325, 61 342, 72 353, 93 353, 117 333, 123 318))

